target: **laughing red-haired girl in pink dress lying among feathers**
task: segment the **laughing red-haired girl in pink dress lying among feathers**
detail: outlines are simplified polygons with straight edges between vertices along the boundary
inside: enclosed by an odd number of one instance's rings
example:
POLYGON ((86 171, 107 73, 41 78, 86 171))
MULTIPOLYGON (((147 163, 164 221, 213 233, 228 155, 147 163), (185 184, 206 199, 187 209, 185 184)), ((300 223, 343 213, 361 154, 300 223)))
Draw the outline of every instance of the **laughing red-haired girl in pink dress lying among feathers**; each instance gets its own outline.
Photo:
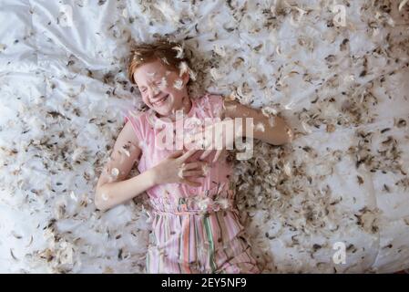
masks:
POLYGON ((128 76, 148 110, 128 111, 97 182, 97 208, 148 193, 148 273, 260 273, 234 203, 226 150, 244 138, 290 142, 289 126, 218 94, 191 99, 194 75, 178 43, 136 46, 128 76), (140 174, 126 179, 135 162, 140 174))

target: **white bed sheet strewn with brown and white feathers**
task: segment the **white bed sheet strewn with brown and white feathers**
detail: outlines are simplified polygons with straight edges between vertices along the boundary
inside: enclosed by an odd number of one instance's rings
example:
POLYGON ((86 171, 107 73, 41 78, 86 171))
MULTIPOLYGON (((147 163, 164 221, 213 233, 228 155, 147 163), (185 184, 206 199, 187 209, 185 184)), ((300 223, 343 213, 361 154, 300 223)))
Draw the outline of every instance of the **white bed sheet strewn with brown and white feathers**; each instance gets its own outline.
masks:
POLYGON ((294 129, 236 163, 264 273, 409 268, 407 1, 0 2, 1 272, 144 272, 146 195, 106 213, 93 198, 124 111, 142 106, 130 46, 157 36, 192 58, 191 97, 294 129))

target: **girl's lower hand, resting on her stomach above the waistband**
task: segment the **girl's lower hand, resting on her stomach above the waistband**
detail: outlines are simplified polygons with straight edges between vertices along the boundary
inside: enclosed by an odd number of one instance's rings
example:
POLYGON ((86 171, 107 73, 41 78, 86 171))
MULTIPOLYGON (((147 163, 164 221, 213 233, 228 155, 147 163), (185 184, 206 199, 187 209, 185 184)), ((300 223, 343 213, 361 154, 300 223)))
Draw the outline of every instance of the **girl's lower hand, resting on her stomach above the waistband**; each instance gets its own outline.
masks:
POLYGON ((201 183, 192 179, 205 177, 208 169, 207 162, 186 162, 197 150, 176 151, 168 158, 152 168, 154 183, 185 183, 199 187, 201 183))

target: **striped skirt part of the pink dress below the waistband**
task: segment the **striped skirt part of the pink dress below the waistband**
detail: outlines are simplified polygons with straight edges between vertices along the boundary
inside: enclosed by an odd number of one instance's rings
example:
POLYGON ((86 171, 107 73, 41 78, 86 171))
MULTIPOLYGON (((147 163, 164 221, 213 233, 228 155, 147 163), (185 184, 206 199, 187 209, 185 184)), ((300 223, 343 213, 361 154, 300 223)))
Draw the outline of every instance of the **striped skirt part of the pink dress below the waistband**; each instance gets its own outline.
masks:
POLYGON ((260 273, 237 212, 156 214, 148 273, 260 273))

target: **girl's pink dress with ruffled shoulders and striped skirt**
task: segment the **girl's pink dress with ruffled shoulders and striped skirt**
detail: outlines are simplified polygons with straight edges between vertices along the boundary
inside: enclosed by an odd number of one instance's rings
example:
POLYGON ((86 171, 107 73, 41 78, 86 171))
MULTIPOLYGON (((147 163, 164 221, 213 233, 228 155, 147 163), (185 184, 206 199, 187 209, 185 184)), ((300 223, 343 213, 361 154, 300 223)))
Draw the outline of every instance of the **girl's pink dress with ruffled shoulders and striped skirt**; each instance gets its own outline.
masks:
MULTIPOLYGON (((192 99, 191 110, 184 119, 184 132, 194 130, 206 118, 208 121, 220 118, 221 110, 220 95, 206 93, 192 99)), ((152 110, 138 115, 128 111, 125 121, 128 120, 142 150, 139 172, 152 168, 174 151, 155 147, 160 131, 172 129, 165 127, 171 121, 158 119, 152 110), (161 123, 165 125, 158 127, 161 123)), ((197 160, 199 155, 200 151, 189 161, 197 160)), ((231 164, 226 154, 222 155, 213 164, 213 154, 207 158, 210 170, 198 180, 202 183, 200 187, 167 183, 147 191, 153 210, 148 273, 260 273, 234 205, 231 164)))

